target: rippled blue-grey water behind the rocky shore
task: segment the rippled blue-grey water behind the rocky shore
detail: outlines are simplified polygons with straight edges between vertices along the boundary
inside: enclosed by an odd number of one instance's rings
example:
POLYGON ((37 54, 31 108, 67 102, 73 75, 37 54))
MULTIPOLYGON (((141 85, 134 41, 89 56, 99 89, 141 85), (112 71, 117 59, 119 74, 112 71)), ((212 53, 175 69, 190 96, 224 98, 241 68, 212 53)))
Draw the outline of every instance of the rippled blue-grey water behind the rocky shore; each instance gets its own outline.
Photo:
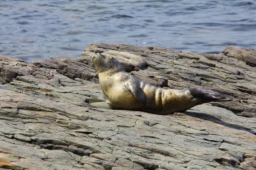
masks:
POLYGON ((91 43, 256 48, 256 0, 0 0, 0 55, 80 57, 91 43))

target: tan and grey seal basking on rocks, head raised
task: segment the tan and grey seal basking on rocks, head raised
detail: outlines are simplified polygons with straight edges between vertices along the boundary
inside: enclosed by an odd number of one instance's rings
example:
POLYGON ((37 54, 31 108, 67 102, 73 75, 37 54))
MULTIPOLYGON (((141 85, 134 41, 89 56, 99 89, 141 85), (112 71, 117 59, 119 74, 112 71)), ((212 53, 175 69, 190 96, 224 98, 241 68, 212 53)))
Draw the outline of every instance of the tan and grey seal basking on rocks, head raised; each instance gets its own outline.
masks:
POLYGON ((232 96, 206 88, 166 90, 154 87, 127 74, 122 64, 113 57, 100 53, 93 54, 92 62, 99 74, 103 96, 111 109, 166 115, 203 103, 233 100, 232 96))

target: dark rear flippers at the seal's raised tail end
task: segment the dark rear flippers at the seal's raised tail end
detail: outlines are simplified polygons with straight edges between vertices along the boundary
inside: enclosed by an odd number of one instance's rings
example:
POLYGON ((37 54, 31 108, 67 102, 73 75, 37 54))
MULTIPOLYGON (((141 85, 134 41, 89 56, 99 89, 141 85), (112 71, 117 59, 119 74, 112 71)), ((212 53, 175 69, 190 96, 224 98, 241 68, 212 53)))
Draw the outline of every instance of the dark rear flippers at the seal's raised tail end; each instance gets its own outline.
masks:
POLYGON ((205 102, 225 102, 234 99, 232 96, 206 88, 189 88, 189 92, 194 98, 201 99, 202 102, 204 102, 204 99, 206 100, 205 102))

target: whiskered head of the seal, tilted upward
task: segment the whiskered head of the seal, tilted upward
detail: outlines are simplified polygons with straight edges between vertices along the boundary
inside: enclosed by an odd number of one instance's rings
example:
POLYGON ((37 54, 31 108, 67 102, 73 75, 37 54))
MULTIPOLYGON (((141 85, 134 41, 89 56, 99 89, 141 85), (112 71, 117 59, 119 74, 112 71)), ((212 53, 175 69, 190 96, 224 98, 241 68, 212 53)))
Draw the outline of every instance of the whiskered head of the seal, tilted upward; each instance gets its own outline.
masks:
POLYGON ((93 54, 92 61, 98 74, 105 71, 111 71, 111 73, 125 71, 124 67, 119 61, 113 57, 107 57, 100 53, 93 54))

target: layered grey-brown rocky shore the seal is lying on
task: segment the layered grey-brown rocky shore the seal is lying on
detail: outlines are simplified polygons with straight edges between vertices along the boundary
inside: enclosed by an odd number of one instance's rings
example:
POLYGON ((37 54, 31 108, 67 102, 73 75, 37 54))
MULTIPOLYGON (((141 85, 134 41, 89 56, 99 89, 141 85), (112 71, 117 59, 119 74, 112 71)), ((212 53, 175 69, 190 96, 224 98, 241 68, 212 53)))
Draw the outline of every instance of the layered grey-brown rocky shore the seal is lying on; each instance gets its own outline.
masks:
POLYGON ((195 54, 92 44, 81 57, 31 64, 0 56, 0 170, 255 170, 256 51, 195 54), (204 87, 231 102, 155 115, 111 110, 95 52, 163 88, 204 87))

